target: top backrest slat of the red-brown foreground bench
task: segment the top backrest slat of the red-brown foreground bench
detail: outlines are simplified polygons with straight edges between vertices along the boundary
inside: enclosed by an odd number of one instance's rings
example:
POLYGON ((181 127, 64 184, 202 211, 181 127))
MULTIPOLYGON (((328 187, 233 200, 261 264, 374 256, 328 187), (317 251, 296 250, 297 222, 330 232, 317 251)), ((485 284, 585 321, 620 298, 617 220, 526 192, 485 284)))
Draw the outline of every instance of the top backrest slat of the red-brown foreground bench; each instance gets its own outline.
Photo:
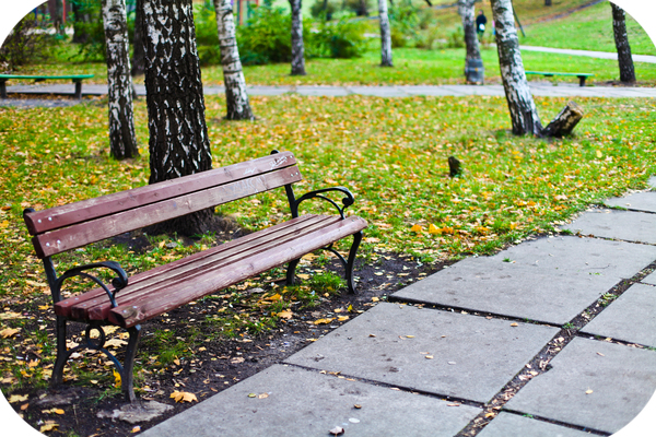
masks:
POLYGON ((25 214, 25 223, 31 235, 38 235, 108 214, 206 190, 226 182, 255 177, 295 164, 296 158, 291 152, 282 152, 227 167, 197 173, 184 178, 165 180, 99 198, 31 212, 25 214))

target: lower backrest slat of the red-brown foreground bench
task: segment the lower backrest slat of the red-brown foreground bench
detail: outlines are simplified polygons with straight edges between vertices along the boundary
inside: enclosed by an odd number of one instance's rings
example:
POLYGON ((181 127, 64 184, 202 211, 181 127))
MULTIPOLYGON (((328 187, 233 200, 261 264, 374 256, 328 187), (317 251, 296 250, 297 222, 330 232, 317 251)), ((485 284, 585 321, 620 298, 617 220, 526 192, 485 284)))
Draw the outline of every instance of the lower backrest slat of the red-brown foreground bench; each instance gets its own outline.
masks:
POLYGON ((282 187, 286 184, 297 182, 301 180, 300 178, 301 174, 297 167, 274 170, 255 178, 221 185, 92 220, 75 226, 56 229, 37 235, 32 240, 37 255, 45 258, 180 215, 282 187))

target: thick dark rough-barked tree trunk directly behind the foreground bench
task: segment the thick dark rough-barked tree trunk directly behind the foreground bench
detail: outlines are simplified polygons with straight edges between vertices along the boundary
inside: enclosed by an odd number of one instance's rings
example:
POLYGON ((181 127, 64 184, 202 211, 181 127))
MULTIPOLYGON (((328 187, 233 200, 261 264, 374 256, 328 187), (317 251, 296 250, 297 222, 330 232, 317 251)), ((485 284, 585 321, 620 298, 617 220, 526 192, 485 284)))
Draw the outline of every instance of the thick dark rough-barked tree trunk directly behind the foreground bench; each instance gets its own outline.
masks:
MULTIPOLYGON (((212 168, 191 0, 143 0, 150 184, 212 168)), ((207 232, 212 209, 168 221, 150 233, 207 232)))

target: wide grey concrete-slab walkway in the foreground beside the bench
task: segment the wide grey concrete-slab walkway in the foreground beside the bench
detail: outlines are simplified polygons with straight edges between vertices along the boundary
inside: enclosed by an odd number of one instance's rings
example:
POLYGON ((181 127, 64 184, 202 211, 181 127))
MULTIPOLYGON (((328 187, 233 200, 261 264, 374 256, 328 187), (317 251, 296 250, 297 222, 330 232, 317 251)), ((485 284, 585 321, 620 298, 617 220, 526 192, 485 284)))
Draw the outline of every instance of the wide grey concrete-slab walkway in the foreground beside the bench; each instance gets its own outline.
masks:
POLYGON ((617 433, 656 390, 656 191, 606 206, 417 282, 142 435, 617 433))

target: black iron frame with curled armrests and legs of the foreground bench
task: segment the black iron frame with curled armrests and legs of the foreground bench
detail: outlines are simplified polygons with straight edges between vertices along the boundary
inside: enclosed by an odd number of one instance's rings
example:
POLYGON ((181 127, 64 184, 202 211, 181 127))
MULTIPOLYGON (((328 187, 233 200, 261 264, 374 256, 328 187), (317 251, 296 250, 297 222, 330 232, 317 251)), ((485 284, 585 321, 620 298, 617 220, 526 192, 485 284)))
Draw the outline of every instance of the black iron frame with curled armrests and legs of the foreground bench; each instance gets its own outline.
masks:
MULTIPOLYGON (((272 155, 278 154, 278 153, 279 153, 278 151, 271 152, 272 155)), ((293 155, 291 155, 291 154, 285 154, 285 156, 283 156, 284 161, 286 161, 286 156, 293 157, 293 155)), ((280 161, 283 161, 283 160, 281 158, 280 161)), ((223 167, 222 169, 226 169, 226 168, 230 168, 230 167, 223 167)), ((290 168, 295 168, 295 167, 290 167, 290 168)), ((230 174, 230 172, 226 172, 226 173, 230 174)), ((319 189, 319 190, 315 190, 315 191, 305 193, 300 198, 296 198, 294 194, 293 187, 292 187, 293 182, 301 180, 300 173, 297 173, 296 175, 298 178, 297 180, 294 180, 290 184, 283 185, 286 197, 288 197, 288 202, 290 204, 292 218, 298 217, 298 206, 302 202, 309 200, 309 199, 318 198, 318 199, 321 199, 321 200, 325 200, 325 201, 328 201, 329 203, 331 203, 339 212, 339 216, 340 216, 341 221, 347 220, 344 210, 354 203, 353 194, 347 188, 331 187, 331 188, 326 188, 326 189, 319 189), (333 200, 331 200, 325 196, 329 191, 339 192, 344 196, 343 199, 341 200, 341 203, 342 203, 341 206, 337 202, 335 202, 333 200)), ((191 175, 191 176, 194 176, 194 175, 191 175)), ((292 175, 292 176, 294 176, 294 175, 292 175)), ((189 178, 189 177, 187 177, 187 178, 189 178)), ((180 181, 181 179, 184 179, 184 178, 174 179, 174 181, 180 181)), ((232 180, 235 180, 235 179, 233 178, 232 180)), ((171 182, 171 181, 168 181, 168 182, 171 182)), ((166 182, 160 182, 160 184, 166 184, 166 182)), ((147 186, 147 187, 153 187, 153 186, 147 186)), ((145 187, 141 187, 141 189, 142 189, 141 192, 143 192, 144 188, 145 187)), ((271 188, 267 188, 265 190, 256 191, 256 192, 269 191, 269 190, 272 190, 276 188, 278 188, 278 187, 271 187, 271 188)), ((134 191, 134 190, 139 190, 139 188, 133 189, 133 190, 128 190, 128 191, 134 191)), ((247 196, 251 196, 253 193, 256 193, 256 192, 251 192, 247 196)), ((125 191, 120 192, 120 193, 125 193, 125 191)), ((118 194, 118 193, 115 193, 115 196, 116 194, 118 194)), ((109 196, 113 196, 113 194, 109 194, 109 196)), ((247 196, 242 196, 237 199, 241 199, 241 198, 244 198, 247 196)), ((179 194, 178 194, 178 197, 173 197, 173 198, 178 199, 179 194)), ((96 199, 101 199, 101 198, 96 198, 96 199)), ((93 200, 96 200, 96 199, 93 199, 93 200)), ((130 197, 130 199, 132 199, 132 197, 130 197)), ((232 200, 229 200, 229 201, 225 201, 222 203, 227 203, 233 200, 236 200, 236 199, 232 199, 232 200)), ((89 202, 89 201, 83 201, 83 202, 89 202)), ((139 205, 138 208, 142 208, 142 206, 143 205, 139 205)), ((49 212, 52 210, 44 210, 44 211, 36 212, 34 209, 28 208, 28 209, 25 209, 25 211, 23 212, 23 216, 25 218, 25 222, 26 222, 27 228, 30 229, 30 233, 35 235, 33 237, 33 244, 35 246, 37 256, 39 256, 39 258, 42 258, 46 277, 47 277, 48 284, 50 286, 54 305, 56 305, 57 303, 60 303, 62 300, 61 287, 62 287, 63 283, 69 279, 72 279, 75 276, 81 276, 81 277, 89 279, 89 280, 93 281, 94 283, 96 283, 107 295, 109 303, 112 305, 112 308, 116 308, 117 307, 117 297, 116 296, 117 296, 117 294, 120 293, 120 291, 122 288, 128 286, 128 282, 129 282, 128 274, 125 272, 125 270, 120 267, 120 264, 118 262, 115 262, 115 261, 94 262, 91 264, 80 265, 80 267, 70 269, 70 270, 66 271, 63 274, 61 274, 60 276, 57 275, 57 272, 55 270, 55 264, 51 259, 51 255, 55 255, 55 253, 50 253, 50 252, 44 253, 46 246, 44 245, 42 247, 43 241, 39 240, 39 237, 42 237, 44 234, 42 233, 39 235, 38 228, 35 228, 35 226, 39 226, 39 225, 44 226, 45 228, 47 228, 49 226, 50 231, 55 229, 55 232, 57 232, 57 225, 49 223, 49 221, 52 220, 49 216, 49 215, 51 215, 51 213, 49 213, 49 212), (43 217, 43 221, 46 223, 42 224, 42 218, 37 218, 37 217, 43 217), (48 218, 46 218, 46 217, 48 217, 48 218), (36 224, 37 222, 38 222, 38 225, 36 224), (116 274, 116 277, 114 277, 110 281, 110 286, 109 286, 109 284, 105 284, 97 276, 87 272, 90 270, 95 270, 95 269, 108 269, 116 274), (110 288, 113 288, 113 290, 110 290, 110 288)), ((187 213, 188 213, 188 211, 186 211, 184 214, 183 213, 178 214, 178 216, 183 216, 187 213)), ((56 214, 52 214, 52 215, 55 215, 54 221, 57 222, 56 214)), ((353 217, 350 216, 350 218, 353 218, 353 217)), ((359 217, 355 217, 355 218, 359 218, 359 217)), ((359 218, 359 220, 362 221, 361 218, 359 218)), ((347 285, 348 285, 348 290, 350 293, 355 292, 355 285, 354 285, 354 280, 353 280, 353 265, 355 262, 355 255, 356 255, 358 248, 360 247, 360 243, 362 241, 362 236, 363 236, 362 228, 364 228, 366 226, 366 223, 364 221, 362 221, 362 222, 364 223, 364 225, 360 227, 360 231, 351 234, 353 236, 353 241, 351 244, 348 259, 342 257, 333 248, 333 244, 343 237, 332 240, 330 244, 328 244, 328 246, 317 248, 317 249, 328 250, 328 251, 335 253, 338 257, 338 259, 341 261, 341 263, 344 268, 344 271, 345 271, 345 280, 347 280, 347 285)), ((75 226, 75 224, 71 225, 71 227, 74 227, 74 226, 75 226)), ((117 233, 116 235, 119 235, 122 232, 117 233)), ((103 238, 101 238, 101 239, 103 239, 103 238)), ((99 239, 96 239, 96 241, 97 240, 99 240, 99 239)), ((61 241, 57 241, 57 243, 59 244, 61 241)), ((91 243, 93 243, 93 241, 91 241, 91 243)), ((87 244, 91 244, 91 243, 85 243, 85 244, 82 244, 79 246, 86 246, 87 244)), ((66 244, 66 241, 65 241, 65 244, 66 244)), ((47 244, 47 246, 49 247, 49 244, 47 244)), ((68 251, 70 249, 71 249, 71 247, 63 248, 62 250, 49 248, 48 250, 52 250, 56 253, 59 253, 62 251, 68 251)), ((313 249, 313 250, 316 250, 316 249, 313 249)), ((296 269, 298 262, 300 262, 300 258, 291 260, 288 263, 285 281, 286 281, 286 284, 289 284, 289 285, 294 283, 295 269, 296 269)), ((282 263, 284 263, 284 262, 282 262, 282 263)), ((258 272, 255 272, 254 274, 258 274, 258 272)), ((251 274, 251 275, 254 275, 254 274, 251 274)), ((238 282, 239 281, 235 281, 226 286, 234 285, 235 283, 238 283, 238 282)), ((206 293, 204 295, 218 292, 219 290, 222 290, 222 288, 214 290, 213 292, 206 293)), ((181 304, 181 305, 184 305, 184 304, 181 304)), ((175 308, 177 308, 181 305, 177 305, 175 308)), ((174 309, 174 308, 171 308, 171 309, 174 309)), ((66 366, 66 363, 68 362, 68 359, 70 358, 70 356, 73 353, 79 352, 81 350, 95 350, 95 351, 98 351, 98 352, 102 352, 103 354, 105 354, 114 363, 117 371, 119 373, 119 375, 121 377, 121 391, 122 391, 124 395, 126 397, 126 399, 128 401, 130 401, 130 402, 134 401, 137 398, 136 398, 134 391, 133 391, 133 365, 134 365, 134 358, 137 355, 138 343, 141 338, 141 324, 124 327, 127 329, 127 331, 129 333, 129 340, 128 340, 128 345, 127 345, 127 350, 126 350, 126 356, 125 356, 124 363, 121 364, 120 361, 105 347, 106 335, 103 330, 103 327, 105 327, 105 326, 116 326, 117 323, 113 323, 107 318, 105 318, 103 320, 83 320, 83 319, 79 319, 79 318, 74 318, 74 317, 66 317, 66 316, 60 316, 60 315, 57 315, 56 317, 57 317, 57 327, 56 327, 56 329, 57 329, 57 359, 56 359, 55 367, 52 370, 52 376, 51 376, 51 381, 50 381, 51 386, 58 386, 58 385, 62 383, 63 368, 66 366), (84 331, 83 341, 78 346, 70 349, 70 350, 67 349, 67 344, 66 344, 67 343, 67 334, 68 334, 67 323, 69 321, 86 323, 86 329, 84 331), (97 339, 95 339, 95 340, 92 339, 92 335, 91 335, 93 331, 96 331, 98 333, 97 339)), ((153 316, 153 317, 156 317, 156 316, 153 316)))

